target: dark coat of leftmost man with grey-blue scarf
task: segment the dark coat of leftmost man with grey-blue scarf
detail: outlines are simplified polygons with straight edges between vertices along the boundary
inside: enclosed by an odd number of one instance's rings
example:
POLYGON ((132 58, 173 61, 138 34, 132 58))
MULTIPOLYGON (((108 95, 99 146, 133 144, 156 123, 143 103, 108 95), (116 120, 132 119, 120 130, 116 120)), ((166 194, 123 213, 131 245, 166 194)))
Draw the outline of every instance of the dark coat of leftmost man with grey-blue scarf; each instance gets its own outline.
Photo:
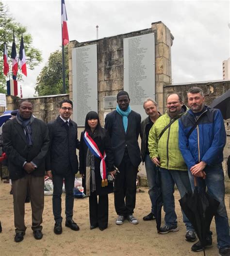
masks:
POLYGON ((23 127, 12 119, 2 127, 3 147, 8 157, 8 169, 10 178, 17 180, 25 176, 24 162, 33 162, 37 169, 32 175, 43 176, 45 174, 45 158, 49 150, 49 130, 47 125, 34 118, 32 124, 33 145, 28 146, 23 127))

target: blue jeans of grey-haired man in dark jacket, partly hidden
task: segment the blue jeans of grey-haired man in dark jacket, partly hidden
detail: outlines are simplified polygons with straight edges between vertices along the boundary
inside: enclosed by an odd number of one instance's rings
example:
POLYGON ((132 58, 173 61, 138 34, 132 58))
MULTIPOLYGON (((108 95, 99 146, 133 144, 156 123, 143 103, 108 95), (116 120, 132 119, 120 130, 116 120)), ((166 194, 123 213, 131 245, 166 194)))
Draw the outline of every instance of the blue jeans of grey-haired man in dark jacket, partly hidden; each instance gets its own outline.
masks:
POLYGON ((149 154, 145 155, 144 158, 145 166, 146 166, 146 174, 148 179, 148 194, 151 200, 151 213, 154 213, 154 187, 156 186, 156 165, 152 162, 149 154))

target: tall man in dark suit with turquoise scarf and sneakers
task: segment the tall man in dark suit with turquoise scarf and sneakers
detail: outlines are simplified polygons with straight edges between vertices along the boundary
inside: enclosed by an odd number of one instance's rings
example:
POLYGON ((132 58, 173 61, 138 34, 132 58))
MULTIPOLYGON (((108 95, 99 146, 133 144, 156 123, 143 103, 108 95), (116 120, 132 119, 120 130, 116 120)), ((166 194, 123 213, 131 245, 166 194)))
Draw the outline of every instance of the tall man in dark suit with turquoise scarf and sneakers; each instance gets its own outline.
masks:
POLYGON ((116 224, 123 224, 125 218, 138 224, 132 215, 136 203, 136 175, 141 162, 138 136, 141 129, 140 114, 131 110, 129 94, 117 94, 116 110, 105 118, 105 129, 109 131, 115 166, 119 173, 114 184, 115 209, 118 215, 116 224))

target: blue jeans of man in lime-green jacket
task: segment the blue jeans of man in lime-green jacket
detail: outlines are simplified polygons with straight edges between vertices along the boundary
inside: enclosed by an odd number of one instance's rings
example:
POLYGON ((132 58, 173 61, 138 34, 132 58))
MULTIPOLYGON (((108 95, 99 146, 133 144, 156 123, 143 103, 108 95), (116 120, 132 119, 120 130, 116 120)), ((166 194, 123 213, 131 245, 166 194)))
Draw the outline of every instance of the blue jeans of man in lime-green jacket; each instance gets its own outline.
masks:
MULTIPOLYGON (((164 222, 167 226, 177 225, 177 215, 175 212, 174 186, 177 185, 181 197, 187 192, 191 192, 187 171, 166 170, 160 168, 163 206, 164 206, 164 222)), ((182 211, 182 210, 181 210, 182 211)), ((187 230, 194 231, 192 224, 182 211, 183 222, 187 230)))

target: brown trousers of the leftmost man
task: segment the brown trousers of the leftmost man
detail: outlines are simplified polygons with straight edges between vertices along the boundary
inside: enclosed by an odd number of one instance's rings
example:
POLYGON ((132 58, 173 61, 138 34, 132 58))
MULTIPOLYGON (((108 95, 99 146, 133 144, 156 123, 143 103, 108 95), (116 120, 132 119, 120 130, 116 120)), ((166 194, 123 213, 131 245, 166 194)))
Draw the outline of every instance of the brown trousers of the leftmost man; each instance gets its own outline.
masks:
POLYGON ((42 213, 44 209, 44 177, 26 174, 19 180, 12 180, 14 198, 15 232, 25 232, 25 199, 29 191, 32 208, 32 230, 42 230, 42 213))

